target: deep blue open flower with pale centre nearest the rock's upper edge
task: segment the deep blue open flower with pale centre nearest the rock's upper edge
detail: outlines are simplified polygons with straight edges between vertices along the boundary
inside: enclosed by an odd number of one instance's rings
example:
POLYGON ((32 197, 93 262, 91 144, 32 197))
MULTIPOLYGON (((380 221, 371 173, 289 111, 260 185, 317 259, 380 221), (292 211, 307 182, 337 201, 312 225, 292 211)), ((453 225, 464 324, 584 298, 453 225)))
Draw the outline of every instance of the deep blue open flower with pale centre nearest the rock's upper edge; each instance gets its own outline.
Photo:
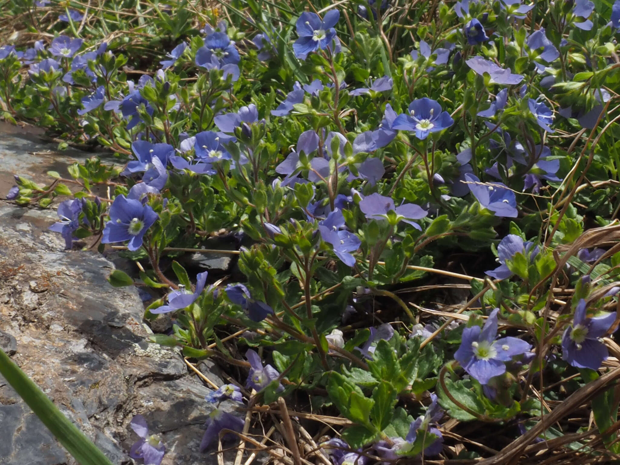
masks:
POLYGON ((153 208, 138 200, 118 195, 110 206, 110 221, 105 224, 103 244, 129 241, 129 250, 138 250, 147 229, 159 218, 153 208))

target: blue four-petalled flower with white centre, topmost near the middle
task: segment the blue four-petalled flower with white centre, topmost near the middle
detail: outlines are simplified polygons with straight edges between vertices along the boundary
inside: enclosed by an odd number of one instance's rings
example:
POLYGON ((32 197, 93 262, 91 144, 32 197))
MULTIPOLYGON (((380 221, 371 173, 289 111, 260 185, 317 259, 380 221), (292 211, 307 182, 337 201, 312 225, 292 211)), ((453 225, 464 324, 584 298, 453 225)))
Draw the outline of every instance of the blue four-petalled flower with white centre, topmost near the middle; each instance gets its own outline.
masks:
POLYGON ((308 53, 325 50, 336 37, 334 26, 340 19, 338 10, 330 10, 321 21, 316 13, 303 12, 296 22, 299 38, 293 44, 295 56, 306 60, 308 53))

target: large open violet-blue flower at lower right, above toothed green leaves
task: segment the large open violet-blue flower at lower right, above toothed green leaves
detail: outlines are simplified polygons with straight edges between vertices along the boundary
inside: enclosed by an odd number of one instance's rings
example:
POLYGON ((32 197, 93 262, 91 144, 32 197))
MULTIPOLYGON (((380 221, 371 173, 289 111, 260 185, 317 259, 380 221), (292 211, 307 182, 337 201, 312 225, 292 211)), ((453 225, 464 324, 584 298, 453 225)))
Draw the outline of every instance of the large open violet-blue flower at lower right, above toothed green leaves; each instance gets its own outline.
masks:
POLYGON ((489 384, 491 378, 505 373, 505 362, 511 361, 513 356, 529 352, 531 348, 527 342, 516 337, 495 340, 498 312, 498 308, 491 312, 482 329, 477 325, 465 328, 461 346, 454 353, 456 361, 480 384, 489 384))

